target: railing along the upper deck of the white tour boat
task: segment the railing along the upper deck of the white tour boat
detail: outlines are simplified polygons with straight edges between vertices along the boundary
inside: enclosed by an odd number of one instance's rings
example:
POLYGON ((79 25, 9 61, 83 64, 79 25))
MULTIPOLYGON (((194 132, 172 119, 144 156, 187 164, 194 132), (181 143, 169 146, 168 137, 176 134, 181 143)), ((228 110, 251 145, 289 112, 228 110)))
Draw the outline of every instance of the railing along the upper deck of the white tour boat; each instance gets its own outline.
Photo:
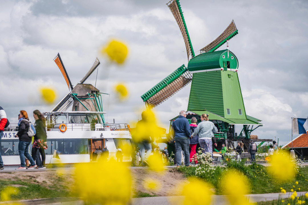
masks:
MULTIPOLYGON (((61 124, 65 124, 68 130, 81 130, 81 131, 128 131, 129 126, 125 123, 46 123, 47 131, 59 131, 61 124)), ((18 131, 18 124, 10 124, 4 131, 18 131)))

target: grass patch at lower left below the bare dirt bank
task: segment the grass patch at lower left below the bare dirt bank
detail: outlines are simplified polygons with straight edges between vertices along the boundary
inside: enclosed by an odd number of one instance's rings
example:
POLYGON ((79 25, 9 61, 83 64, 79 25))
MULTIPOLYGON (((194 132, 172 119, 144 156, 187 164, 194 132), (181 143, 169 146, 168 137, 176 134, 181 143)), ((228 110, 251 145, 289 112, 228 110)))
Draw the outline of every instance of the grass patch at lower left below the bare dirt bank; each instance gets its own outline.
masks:
POLYGON ((63 187, 61 185, 54 185, 47 188, 45 186, 41 186, 38 183, 29 183, 22 180, 0 180, 0 191, 2 191, 5 187, 9 187, 15 184, 22 186, 17 187, 19 189, 17 195, 11 195, 12 200, 56 198, 69 196, 69 191, 67 191, 67 187, 63 187))

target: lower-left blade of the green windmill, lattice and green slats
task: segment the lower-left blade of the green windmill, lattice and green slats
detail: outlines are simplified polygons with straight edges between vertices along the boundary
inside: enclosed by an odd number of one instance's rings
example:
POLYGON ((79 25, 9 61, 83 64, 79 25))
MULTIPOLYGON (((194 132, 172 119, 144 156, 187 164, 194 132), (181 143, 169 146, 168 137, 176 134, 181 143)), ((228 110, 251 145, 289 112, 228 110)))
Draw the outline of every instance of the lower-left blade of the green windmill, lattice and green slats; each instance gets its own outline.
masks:
POLYGON ((186 86, 191 80, 192 76, 183 64, 144 93, 141 98, 147 106, 156 107, 186 86))

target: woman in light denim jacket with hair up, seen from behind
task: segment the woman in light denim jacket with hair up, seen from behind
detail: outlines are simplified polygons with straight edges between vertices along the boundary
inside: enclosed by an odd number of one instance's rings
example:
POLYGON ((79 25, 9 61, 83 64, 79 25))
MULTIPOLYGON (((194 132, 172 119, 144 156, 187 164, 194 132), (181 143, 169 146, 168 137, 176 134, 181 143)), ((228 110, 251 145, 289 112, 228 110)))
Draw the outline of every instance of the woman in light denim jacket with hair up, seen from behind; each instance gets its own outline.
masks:
POLYGON ((209 116, 207 114, 202 114, 201 123, 198 124, 197 128, 193 132, 193 136, 199 135, 199 144, 203 149, 202 152, 208 152, 213 156, 213 142, 212 138, 214 138, 214 143, 216 144, 214 134, 217 133, 218 129, 215 127, 214 123, 209 121, 209 116))

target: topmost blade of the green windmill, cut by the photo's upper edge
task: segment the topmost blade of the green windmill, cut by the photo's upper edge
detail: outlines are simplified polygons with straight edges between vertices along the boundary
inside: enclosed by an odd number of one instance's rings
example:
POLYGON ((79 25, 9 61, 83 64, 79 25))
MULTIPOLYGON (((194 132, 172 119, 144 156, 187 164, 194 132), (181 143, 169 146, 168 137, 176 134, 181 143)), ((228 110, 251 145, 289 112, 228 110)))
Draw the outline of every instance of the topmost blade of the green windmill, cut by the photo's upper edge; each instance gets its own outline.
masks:
POLYGON ((167 6, 169 7, 170 11, 172 12, 177 25, 180 27, 180 31, 182 33, 182 36, 184 38, 185 46, 186 46, 186 51, 187 51, 187 58, 189 61, 189 56, 195 57, 195 53, 193 51, 193 46, 189 38, 187 26, 185 23, 185 19, 183 16, 183 12, 180 6, 179 0, 171 0, 170 2, 167 3, 167 6))

